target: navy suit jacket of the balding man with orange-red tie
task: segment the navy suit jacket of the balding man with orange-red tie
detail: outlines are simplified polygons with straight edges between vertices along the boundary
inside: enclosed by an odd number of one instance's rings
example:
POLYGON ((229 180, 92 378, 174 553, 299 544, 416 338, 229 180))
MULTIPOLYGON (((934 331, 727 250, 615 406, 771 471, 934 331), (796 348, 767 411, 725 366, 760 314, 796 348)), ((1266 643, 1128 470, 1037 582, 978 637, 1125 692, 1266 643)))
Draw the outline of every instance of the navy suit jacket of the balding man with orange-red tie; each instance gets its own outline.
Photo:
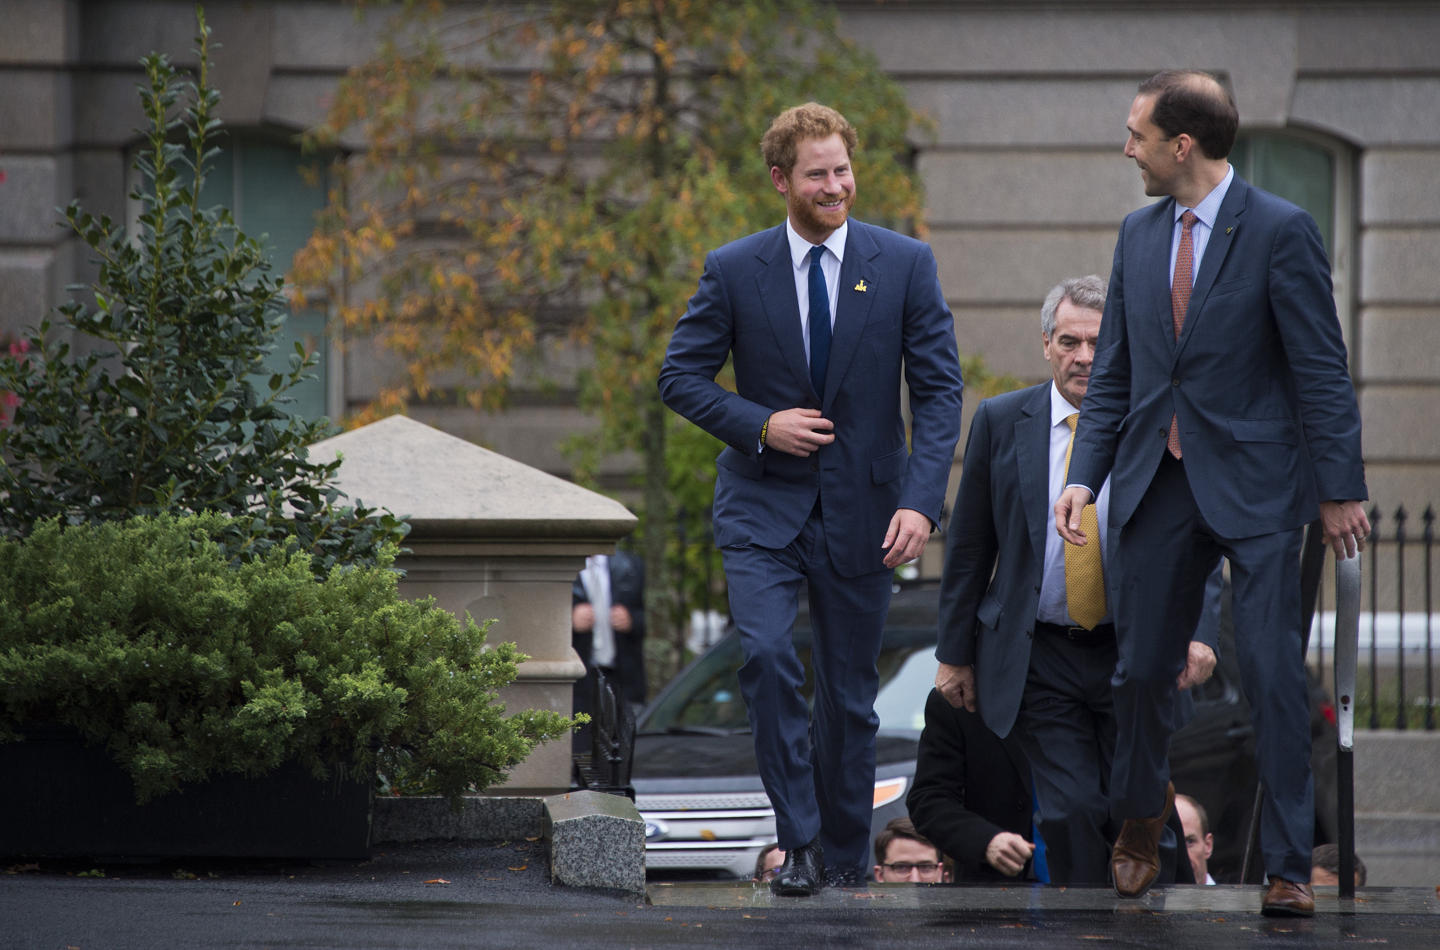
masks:
POLYGON ((1110 525, 1149 488, 1171 416, 1195 504, 1221 537, 1297 528, 1320 501, 1365 499, 1359 407, 1315 220, 1236 176, 1179 340, 1169 294, 1175 200, 1120 226, 1070 461, 1110 476, 1110 525))

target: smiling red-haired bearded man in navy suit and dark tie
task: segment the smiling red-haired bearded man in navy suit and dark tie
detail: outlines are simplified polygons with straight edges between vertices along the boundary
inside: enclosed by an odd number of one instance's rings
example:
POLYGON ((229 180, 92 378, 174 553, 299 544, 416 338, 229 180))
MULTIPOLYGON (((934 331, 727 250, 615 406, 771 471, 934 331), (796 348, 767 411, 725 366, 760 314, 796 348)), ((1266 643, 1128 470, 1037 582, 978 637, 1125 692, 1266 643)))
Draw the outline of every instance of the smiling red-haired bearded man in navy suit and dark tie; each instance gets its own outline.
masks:
POLYGON ((660 373, 665 404, 727 445, 714 537, 785 849, 778 894, 864 881, 893 569, 919 557, 939 522, 960 429, 955 322, 935 256, 848 220, 855 142, 840 112, 814 102, 775 119, 760 148, 786 220, 708 255, 660 373), (736 392, 714 381, 732 356, 736 392), (791 642, 802 583, 814 723, 791 642))

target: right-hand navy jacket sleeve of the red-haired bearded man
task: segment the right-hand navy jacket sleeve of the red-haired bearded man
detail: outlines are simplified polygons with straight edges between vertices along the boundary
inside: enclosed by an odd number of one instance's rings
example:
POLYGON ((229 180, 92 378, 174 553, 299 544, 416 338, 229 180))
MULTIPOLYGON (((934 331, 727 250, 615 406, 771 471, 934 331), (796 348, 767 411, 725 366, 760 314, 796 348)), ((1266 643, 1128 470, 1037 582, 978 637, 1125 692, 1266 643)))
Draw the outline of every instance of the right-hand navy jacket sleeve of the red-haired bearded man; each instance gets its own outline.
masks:
POLYGON ((910 390, 910 463, 900 508, 912 508, 940 524, 945 487, 950 484, 955 443, 960 439, 960 357, 955 317, 945 305, 935 253, 923 245, 906 289, 904 380, 910 390))

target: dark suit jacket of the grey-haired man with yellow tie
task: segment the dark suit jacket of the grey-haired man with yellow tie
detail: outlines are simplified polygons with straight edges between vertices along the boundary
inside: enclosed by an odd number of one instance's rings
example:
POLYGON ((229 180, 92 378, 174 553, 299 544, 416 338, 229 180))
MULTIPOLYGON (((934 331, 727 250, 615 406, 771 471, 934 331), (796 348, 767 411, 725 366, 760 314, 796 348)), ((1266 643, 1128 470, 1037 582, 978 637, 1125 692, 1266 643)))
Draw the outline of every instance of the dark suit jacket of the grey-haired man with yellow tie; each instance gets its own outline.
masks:
MULTIPOLYGON (((1104 332, 1103 322, 1100 331, 1104 332)), ((1070 465, 1073 471, 1073 455, 1070 465)), ((1115 508, 1113 479, 1110 508, 1115 508)), ((975 665, 981 718, 1002 737, 1015 724, 1030 671, 1048 511, 1050 383, 984 400, 971 422, 965 471, 945 533, 935 655, 942 664, 975 665)), ((1115 541, 1112 533, 1107 546, 1112 551, 1115 541)), ((1217 566, 1192 638, 1214 651, 1220 649, 1221 584, 1217 566)), ((1115 605, 1113 587, 1109 597, 1115 605)), ((1187 694, 1181 702, 1188 700, 1187 694)), ((1188 720, 1192 711, 1194 707, 1182 708, 1182 718, 1188 720)))

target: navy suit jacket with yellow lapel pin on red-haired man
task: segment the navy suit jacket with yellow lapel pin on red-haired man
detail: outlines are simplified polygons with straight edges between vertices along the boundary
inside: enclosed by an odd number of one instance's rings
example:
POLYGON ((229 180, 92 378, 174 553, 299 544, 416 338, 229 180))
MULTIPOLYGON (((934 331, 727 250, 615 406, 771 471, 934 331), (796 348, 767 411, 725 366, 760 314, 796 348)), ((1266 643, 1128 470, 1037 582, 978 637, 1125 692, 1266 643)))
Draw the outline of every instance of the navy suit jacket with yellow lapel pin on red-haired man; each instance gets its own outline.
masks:
POLYGON ((824 498, 829 557, 845 577, 884 570, 880 543, 896 508, 939 524, 960 387, 955 320, 929 245, 854 219, 824 393, 809 379, 785 225, 706 258, 660 371, 665 404, 727 446, 716 459, 716 546, 782 548, 824 498), (736 392, 716 383, 732 356, 736 392), (809 458, 760 452, 760 426, 785 409, 819 409, 835 440, 809 458))

